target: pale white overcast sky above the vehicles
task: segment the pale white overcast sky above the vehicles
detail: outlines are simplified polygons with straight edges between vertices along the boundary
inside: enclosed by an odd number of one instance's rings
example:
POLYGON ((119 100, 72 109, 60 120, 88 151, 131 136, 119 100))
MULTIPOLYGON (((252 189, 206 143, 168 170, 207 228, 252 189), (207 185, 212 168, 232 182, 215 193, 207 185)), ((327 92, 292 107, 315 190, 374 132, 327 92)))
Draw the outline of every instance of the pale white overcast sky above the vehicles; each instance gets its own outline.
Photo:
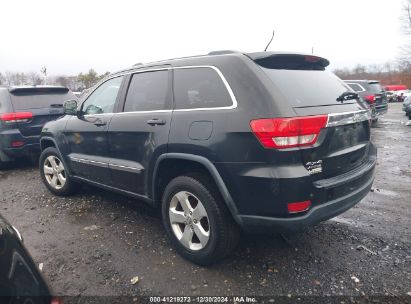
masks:
POLYGON ((3 0, 0 72, 114 72, 137 62, 264 49, 314 53, 331 69, 395 60, 403 0, 3 0))

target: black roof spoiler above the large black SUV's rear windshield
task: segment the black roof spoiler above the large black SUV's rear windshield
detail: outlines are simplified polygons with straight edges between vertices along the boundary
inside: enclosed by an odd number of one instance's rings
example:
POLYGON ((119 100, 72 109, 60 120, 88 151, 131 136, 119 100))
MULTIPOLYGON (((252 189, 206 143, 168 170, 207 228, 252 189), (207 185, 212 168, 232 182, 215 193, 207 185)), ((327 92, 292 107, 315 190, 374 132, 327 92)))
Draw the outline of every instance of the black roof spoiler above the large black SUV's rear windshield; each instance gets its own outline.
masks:
POLYGON ((330 64, 325 58, 307 54, 259 52, 245 55, 268 69, 325 70, 330 64))

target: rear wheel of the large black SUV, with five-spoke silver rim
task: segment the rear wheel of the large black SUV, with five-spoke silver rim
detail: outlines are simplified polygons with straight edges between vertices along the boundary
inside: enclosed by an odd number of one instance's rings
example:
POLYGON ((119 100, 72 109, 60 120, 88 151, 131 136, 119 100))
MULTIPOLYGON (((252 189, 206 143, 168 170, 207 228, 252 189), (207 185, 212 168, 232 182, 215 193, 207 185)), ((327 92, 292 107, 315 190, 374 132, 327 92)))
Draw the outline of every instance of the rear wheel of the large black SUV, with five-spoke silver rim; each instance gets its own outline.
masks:
POLYGON ((214 264, 238 244, 239 228, 219 192, 206 178, 179 176, 171 180, 163 194, 161 213, 172 245, 195 264, 214 264))

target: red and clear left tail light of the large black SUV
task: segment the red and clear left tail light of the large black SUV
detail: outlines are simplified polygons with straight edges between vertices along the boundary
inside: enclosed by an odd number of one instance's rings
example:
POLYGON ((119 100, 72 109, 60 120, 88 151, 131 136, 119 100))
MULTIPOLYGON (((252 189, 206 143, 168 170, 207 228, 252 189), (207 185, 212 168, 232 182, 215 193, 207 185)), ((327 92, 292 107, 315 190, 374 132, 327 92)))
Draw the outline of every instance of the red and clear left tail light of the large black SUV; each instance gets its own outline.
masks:
POLYGON ((328 116, 257 119, 251 130, 265 148, 287 149, 314 145, 328 116))

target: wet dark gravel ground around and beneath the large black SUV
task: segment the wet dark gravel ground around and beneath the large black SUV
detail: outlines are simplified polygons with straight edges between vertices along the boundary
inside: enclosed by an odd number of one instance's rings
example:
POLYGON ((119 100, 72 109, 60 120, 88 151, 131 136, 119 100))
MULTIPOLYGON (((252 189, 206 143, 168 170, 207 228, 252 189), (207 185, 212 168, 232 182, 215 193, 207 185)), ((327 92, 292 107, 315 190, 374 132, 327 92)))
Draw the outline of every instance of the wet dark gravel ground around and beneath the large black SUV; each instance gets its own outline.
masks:
POLYGON ((244 236, 236 252, 213 267, 176 254, 157 210, 87 186, 70 198, 55 197, 30 164, 0 171, 0 213, 22 232, 58 295, 385 295, 411 302, 406 121, 401 105, 390 104, 372 129, 376 180, 356 207, 300 234, 244 236))

